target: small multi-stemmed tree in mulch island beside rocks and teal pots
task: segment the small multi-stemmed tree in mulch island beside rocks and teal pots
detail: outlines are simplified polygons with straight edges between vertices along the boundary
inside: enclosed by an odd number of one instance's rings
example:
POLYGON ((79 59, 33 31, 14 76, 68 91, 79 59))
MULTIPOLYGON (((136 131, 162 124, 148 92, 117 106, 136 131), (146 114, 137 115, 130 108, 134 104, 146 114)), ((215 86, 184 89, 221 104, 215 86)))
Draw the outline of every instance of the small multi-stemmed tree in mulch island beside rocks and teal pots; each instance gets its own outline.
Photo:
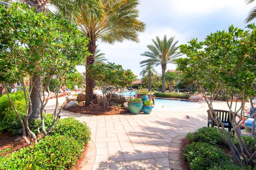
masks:
POLYGON ((97 80, 102 90, 103 97, 106 95, 106 104, 111 100, 114 87, 126 87, 132 84, 135 76, 131 70, 124 70, 121 65, 115 63, 99 63, 88 66, 88 76, 97 80), (108 89, 108 91, 107 91, 108 89))

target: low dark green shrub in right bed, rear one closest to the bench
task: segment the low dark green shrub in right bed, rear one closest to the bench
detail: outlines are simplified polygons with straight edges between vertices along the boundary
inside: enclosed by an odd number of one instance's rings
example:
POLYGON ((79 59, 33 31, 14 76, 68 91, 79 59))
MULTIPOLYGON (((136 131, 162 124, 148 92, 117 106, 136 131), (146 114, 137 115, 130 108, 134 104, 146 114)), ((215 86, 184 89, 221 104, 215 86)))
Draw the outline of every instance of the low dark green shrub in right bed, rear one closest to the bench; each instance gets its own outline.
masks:
POLYGON ((195 132, 188 133, 186 138, 191 142, 204 142, 211 145, 225 144, 216 127, 202 127, 195 132))

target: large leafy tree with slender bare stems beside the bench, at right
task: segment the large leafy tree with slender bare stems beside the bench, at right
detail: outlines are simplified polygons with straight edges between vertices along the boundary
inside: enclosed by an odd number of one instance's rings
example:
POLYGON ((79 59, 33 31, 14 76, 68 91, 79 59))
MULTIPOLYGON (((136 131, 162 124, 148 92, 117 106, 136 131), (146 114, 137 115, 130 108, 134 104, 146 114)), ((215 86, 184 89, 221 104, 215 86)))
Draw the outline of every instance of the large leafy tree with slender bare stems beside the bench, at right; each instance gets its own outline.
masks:
MULTIPOLYGON (((211 33, 204 42, 192 39, 189 45, 180 46, 180 51, 188 57, 186 66, 177 63, 178 68, 182 70, 182 74, 186 73, 193 77, 202 89, 202 94, 212 116, 218 117, 212 107, 212 103, 218 95, 223 95, 227 101, 230 96, 241 96, 241 106, 237 105, 237 100, 235 103, 233 100, 227 102, 229 111, 233 115, 233 119, 230 120, 233 126, 232 131, 227 133, 224 129, 221 130, 219 122, 216 123, 220 136, 229 146, 235 160, 246 166, 254 160, 256 152, 250 154, 246 149, 239 133, 240 125, 245 120, 242 120, 241 117, 237 121, 236 114, 243 115, 246 100, 249 99, 252 104, 256 90, 256 27, 251 24, 248 25, 248 28, 250 30, 244 31, 231 25, 228 31, 211 33), (192 72, 190 72, 191 69, 193 69, 192 72), (183 72, 183 70, 186 72, 183 72), (211 94, 212 98, 210 100, 207 100, 206 89, 211 94), (236 107, 232 109, 232 105, 236 107), (233 131, 235 131, 236 138, 239 141, 239 149, 234 145, 231 138, 233 131)), ((253 115, 252 131, 255 131, 255 115, 256 113, 253 115)), ((223 127, 223 124, 220 124, 223 127)), ((256 140, 255 133, 252 136, 256 140)))

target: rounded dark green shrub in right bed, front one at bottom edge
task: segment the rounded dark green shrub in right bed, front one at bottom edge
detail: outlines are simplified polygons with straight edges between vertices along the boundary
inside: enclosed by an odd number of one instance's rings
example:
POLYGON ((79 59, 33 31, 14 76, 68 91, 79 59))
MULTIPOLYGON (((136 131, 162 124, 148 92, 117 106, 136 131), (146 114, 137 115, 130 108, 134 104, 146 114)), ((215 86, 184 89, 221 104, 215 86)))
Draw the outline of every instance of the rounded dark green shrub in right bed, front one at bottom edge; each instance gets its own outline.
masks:
POLYGON ((186 145, 183 157, 188 161, 191 170, 211 169, 231 162, 230 156, 224 150, 201 142, 186 145))

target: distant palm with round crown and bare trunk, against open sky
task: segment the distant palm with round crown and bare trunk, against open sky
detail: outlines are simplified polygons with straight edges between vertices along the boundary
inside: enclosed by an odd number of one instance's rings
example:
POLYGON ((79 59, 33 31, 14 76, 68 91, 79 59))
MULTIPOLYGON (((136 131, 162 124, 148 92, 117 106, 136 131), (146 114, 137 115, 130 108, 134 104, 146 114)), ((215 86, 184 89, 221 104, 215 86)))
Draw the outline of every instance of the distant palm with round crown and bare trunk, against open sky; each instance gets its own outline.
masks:
POLYGON ((145 66, 147 64, 152 65, 161 65, 162 68, 162 92, 165 91, 165 71, 168 63, 174 63, 174 59, 178 56, 178 46, 176 44, 178 41, 174 41, 174 37, 170 39, 166 38, 164 35, 164 39, 160 40, 158 36, 156 36, 156 40, 152 39, 154 45, 147 45, 150 51, 145 51, 142 56, 149 57, 149 59, 141 61, 140 64, 145 66))

